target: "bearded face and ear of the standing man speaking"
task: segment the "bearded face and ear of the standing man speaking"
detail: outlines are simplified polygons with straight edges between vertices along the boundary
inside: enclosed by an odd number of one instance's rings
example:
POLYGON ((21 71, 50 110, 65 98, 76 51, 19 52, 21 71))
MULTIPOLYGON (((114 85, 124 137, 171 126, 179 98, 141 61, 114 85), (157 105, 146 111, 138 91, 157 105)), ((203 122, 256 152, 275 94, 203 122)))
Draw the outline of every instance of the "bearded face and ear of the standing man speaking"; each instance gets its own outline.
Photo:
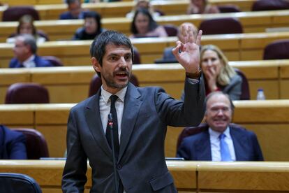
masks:
POLYGON ((128 85, 131 76, 132 54, 131 49, 124 45, 106 45, 103 65, 96 58, 91 59, 95 71, 101 73, 103 88, 115 94, 128 85))

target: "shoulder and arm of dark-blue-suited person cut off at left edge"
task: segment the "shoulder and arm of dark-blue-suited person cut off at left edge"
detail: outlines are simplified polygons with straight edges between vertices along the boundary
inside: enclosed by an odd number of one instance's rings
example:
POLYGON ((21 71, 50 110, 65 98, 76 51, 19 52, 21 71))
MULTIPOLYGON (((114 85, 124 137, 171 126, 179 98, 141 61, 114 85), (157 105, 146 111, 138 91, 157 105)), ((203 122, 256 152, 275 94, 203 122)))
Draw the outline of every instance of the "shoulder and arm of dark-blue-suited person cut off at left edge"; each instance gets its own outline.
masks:
POLYGON ((0 159, 27 159, 25 136, 0 124, 0 159))

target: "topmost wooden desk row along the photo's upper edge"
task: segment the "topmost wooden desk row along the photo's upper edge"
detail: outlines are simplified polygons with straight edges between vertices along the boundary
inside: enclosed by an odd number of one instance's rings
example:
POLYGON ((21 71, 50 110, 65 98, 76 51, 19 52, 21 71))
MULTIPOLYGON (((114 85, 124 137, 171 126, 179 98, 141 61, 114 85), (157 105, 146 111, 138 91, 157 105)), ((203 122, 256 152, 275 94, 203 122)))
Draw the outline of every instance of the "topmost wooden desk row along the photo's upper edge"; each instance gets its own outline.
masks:
MULTIPOLYGON (((239 7, 242 11, 251 11, 251 6, 255 0, 210 0, 209 3, 216 6, 226 4, 233 4, 239 7)), ((29 1, 8 1, 3 0, 2 3, 8 3, 10 6, 17 5, 34 5, 38 11, 41 20, 58 20, 59 15, 67 10, 66 3, 61 0, 29 0, 29 1)), ((126 17, 126 13, 130 12, 135 5, 134 1, 122 1, 111 3, 82 3, 82 8, 94 10, 101 14, 103 18, 106 17, 126 17)), ((165 15, 182 15, 186 14, 188 7, 188 0, 175 0, 175 1, 151 1, 154 8, 161 10, 165 15)), ((3 11, 6 8, 0 9, 0 20, 3 11)))

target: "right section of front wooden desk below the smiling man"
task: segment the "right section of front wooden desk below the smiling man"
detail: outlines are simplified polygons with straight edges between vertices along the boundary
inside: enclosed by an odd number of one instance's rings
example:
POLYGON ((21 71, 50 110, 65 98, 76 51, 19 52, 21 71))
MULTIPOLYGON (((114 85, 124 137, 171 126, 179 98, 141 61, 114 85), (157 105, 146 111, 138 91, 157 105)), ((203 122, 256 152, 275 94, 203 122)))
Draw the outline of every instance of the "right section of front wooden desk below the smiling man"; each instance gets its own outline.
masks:
POLYGON ((289 190, 288 162, 200 162, 200 192, 282 192, 289 190))

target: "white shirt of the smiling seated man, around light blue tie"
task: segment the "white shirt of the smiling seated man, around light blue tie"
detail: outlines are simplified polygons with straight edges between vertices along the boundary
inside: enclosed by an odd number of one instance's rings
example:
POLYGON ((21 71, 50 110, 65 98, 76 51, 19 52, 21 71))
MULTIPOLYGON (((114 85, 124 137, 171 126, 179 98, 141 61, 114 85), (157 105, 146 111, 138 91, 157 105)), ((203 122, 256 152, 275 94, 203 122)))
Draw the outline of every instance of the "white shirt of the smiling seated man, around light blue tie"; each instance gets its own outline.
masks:
MULTIPOLYGON (((214 131, 213 129, 209 128, 209 141, 211 143, 211 155, 212 161, 220 162, 221 161, 221 151, 220 151, 220 132, 214 131)), ((232 141, 232 137, 230 135, 230 127, 227 127, 223 132, 225 134, 225 142, 228 144, 228 148, 230 150, 230 156, 232 161, 236 161, 235 149, 234 144, 232 141)))

